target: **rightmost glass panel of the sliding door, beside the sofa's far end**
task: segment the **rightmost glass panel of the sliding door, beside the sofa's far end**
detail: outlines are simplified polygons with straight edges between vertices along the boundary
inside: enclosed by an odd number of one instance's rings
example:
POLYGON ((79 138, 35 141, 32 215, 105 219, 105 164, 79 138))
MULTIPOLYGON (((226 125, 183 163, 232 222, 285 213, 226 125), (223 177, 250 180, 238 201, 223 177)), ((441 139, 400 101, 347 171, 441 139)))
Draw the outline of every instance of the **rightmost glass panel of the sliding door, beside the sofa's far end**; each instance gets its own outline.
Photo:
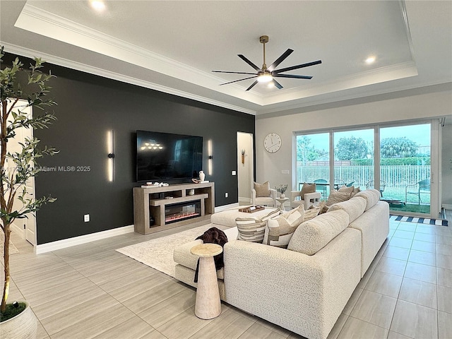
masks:
POLYGON ((380 129, 382 199, 390 210, 430 214, 430 124, 380 129))

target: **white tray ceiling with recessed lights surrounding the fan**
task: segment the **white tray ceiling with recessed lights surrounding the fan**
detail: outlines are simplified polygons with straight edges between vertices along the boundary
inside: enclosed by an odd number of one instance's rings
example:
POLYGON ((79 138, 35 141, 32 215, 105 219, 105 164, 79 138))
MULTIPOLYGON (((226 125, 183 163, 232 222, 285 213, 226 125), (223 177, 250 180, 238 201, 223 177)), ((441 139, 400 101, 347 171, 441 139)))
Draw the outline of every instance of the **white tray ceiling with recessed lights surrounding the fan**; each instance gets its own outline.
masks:
POLYGON ((452 81, 452 1, 0 1, 6 52, 249 114, 452 81), (213 70, 254 72, 237 54, 278 69, 283 89, 213 70), (376 62, 364 60, 374 55, 376 62))

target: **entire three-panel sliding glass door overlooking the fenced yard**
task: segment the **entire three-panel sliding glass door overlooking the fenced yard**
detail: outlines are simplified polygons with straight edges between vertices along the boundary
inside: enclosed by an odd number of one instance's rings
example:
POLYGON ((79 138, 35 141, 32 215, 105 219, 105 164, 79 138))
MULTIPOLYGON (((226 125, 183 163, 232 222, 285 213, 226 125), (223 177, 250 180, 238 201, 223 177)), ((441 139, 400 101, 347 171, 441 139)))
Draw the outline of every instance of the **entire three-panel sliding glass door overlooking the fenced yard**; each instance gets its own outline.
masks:
POLYGON ((297 135, 297 188, 316 182, 323 199, 344 185, 374 188, 392 213, 436 218, 437 133, 428 122, 297 135))

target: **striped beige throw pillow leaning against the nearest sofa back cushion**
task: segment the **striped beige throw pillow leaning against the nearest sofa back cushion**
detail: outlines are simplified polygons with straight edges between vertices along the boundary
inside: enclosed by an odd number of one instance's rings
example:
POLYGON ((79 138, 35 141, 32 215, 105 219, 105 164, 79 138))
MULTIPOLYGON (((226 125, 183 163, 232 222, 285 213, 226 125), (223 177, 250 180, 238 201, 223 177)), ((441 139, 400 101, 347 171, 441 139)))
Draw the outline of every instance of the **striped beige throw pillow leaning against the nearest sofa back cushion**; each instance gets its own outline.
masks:
POLYGON ((303 206, 298 206, 287 213, 268 219, 263 244, 286 249, 292 234, 303 222, 303 219, 303 206))

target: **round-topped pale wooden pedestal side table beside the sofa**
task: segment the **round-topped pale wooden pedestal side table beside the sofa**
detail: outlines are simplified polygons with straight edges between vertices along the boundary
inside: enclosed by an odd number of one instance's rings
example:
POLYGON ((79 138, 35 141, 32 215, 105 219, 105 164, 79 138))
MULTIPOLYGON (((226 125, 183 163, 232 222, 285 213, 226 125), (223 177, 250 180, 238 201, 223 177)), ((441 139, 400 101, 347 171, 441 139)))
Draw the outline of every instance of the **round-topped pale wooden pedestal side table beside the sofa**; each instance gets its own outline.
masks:
POLYGON ((218 244, 199 244, 193 246, 190 251, 191 254, 199 256, 195 314, 201 319, 213 319, 221 313, 217 270, 213 256, 220 254, 223 248, 218 244))

